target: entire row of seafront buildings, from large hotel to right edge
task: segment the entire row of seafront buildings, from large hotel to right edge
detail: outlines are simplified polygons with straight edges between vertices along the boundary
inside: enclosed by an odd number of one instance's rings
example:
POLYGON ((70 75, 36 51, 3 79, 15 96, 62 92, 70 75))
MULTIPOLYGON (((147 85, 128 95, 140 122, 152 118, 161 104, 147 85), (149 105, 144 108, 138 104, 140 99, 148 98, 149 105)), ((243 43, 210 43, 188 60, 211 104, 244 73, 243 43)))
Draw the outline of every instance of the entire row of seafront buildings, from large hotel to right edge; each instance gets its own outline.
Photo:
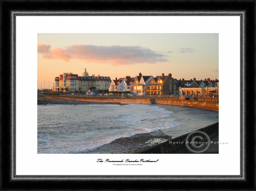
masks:
POLYGON ((53 91, 95 91, 108 90, 112 92, 130 92, 134 95, 200 95, 209 92, 218 92, 219 81, 210 80, 184 80, 174 79, 172 74, 161 76, 126 76, 119 79, 110 79, 109 76, 89 76, 88 72, 82 76, 73 73, 63 73, 55 77, 53 91))

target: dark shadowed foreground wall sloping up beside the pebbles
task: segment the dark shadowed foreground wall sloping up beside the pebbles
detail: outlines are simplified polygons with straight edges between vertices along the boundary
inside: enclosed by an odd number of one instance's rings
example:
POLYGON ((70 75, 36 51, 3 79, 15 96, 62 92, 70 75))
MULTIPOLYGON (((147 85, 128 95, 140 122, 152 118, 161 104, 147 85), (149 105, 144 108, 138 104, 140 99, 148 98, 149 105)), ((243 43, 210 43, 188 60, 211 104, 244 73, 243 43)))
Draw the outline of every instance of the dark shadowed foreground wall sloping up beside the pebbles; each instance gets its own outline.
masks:
MULTIPOLYGON (((198 130, 203 131, 203 132, 207 133, 207 135, 212 137, 219 133, 219 122, 209 125, 207 127, 198 129, 198 130)), ((196 131, 198 131, 198 130, 196 130, 196 131)), ((172 142, 184 141, 184 142, 186 142, 187 135, 189 135, 189 133, 187 133, 185 135, 181 135, 181 136, 171 139, 169 141, 172 141, 172 142)), ((162 142, 155 146, 149 147, 147 149, 137 151, 137 152, 135 152, 135 154, 175 154, 183 149, 186 149, 186 144, 169 144, 169 141, 165 141, 165 142, 162 142)))

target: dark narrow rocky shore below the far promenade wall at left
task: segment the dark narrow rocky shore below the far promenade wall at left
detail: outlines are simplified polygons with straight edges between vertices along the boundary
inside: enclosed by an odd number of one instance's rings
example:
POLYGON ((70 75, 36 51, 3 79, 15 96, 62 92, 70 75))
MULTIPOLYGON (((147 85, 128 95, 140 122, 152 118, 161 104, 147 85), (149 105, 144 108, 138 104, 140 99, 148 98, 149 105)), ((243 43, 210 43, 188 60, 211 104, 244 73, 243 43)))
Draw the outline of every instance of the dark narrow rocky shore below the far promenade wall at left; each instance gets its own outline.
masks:
POLYGON ((126 105, 124 103, 110 103, 110 102, 85 102, 76 100, 58 100, 58 99, 46 99, 45 97, 37 97, 37 105, 47 104, 61 104, 61 105, 89 105, 89 104, 117 104, 126 105))

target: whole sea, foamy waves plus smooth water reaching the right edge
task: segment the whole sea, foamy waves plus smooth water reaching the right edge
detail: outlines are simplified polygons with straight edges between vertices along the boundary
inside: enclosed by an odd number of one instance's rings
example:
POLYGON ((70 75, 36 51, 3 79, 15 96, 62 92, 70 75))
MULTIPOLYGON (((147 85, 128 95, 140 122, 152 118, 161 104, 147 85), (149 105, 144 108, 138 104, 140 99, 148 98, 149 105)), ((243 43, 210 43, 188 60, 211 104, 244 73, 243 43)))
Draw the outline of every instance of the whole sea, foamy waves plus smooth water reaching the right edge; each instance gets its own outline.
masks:
POLYGON ((38 105, 37 152, 86 153, 117 138, 155 130, 181 135, 218 122, 218 116, 216 111, 173 105, 38 105))

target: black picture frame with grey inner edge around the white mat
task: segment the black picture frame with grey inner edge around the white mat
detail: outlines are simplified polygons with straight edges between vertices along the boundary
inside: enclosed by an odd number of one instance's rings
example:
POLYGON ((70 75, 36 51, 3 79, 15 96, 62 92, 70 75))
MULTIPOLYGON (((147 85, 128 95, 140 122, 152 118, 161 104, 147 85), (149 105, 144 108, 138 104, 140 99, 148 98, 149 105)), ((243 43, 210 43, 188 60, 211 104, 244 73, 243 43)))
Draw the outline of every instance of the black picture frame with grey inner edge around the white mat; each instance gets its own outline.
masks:
POLYGON ((1 190, 255 190, 255 6, 255 0, 1 1, 1 190), (241 17, 241 175, 15 175, 15 17, 17 15, 239 15, 241 17))

